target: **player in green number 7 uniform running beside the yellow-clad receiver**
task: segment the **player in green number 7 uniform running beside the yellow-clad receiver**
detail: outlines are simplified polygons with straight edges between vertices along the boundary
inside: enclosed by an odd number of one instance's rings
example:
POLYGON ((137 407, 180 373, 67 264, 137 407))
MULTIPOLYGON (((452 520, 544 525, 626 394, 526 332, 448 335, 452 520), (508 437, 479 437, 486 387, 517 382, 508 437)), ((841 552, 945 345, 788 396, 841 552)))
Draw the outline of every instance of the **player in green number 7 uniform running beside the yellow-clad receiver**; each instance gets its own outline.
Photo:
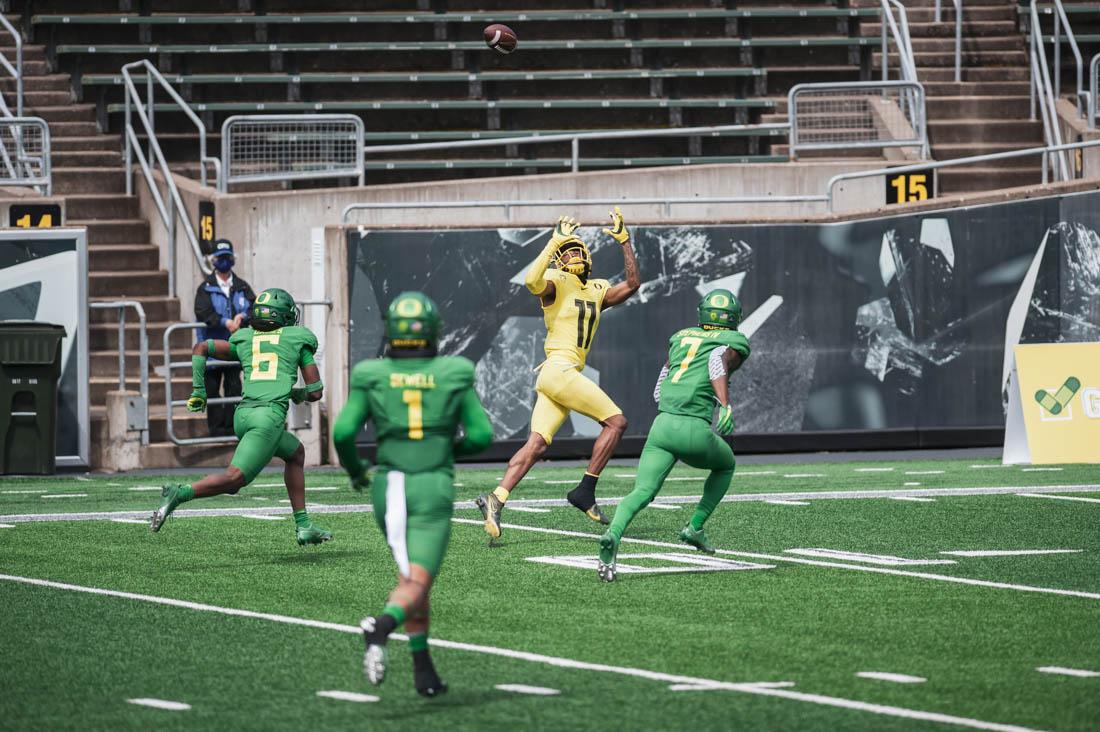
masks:
POLYGON ((713 289, 698 304, 698 327, 684 328, 669 339, 669 360, 653 390, 657 418, 649 429, 638 461, 634 490, 623 499, 610 528, 600 537, 597 573, 605 582, 615 580, 615 557, 623 532, 639 511, 661 490, 676 460, 693 468, 707 468, 703 498, 680 540, 714 554, 703 533, 703 524, 729 490, 737 461, 729 445, 711 431, 715 403, 721 435, 734 431, 729 406, 729 374, 749 357, 749 341, 738 332, 741 304, 728 289, 713 289))

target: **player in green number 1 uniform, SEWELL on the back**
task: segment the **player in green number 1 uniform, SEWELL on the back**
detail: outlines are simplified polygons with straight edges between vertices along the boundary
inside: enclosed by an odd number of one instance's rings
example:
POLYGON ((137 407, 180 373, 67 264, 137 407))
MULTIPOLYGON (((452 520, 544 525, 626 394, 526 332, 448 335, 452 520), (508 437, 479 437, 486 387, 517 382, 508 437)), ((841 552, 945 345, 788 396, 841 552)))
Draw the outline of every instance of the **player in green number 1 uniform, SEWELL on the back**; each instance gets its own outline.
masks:
POLYGON ((416 690, 447 691, 428 655, 429 592, 451 537, 454 456, 488 447, 493 427, 474 391, 474 364, 437 356, 442 320, 421 293, 402 293, 386 314, 387 352, 352 370, 348 404, 332 428, 340 463, 356 491, 371 489, 374 518, 397 562, 397 587, 382 613, 364 618, 363 671, 382 684, 386 641, 402 623, 413 652, 416 690), (359 457, 367 420, 378 439, 377 471, 359 457), (462 426, 465 435, 455 443, 462 426))

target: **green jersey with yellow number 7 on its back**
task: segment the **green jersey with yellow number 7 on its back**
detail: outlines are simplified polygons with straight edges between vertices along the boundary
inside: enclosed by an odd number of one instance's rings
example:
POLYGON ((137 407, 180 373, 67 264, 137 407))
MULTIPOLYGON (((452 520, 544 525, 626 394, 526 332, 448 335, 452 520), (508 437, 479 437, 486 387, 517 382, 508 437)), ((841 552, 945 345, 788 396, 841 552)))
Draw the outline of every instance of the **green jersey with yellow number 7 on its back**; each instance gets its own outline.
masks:
POLYGON ((737 351, 741 363, 749 357, 749 339, 737 330, 684 328, 669 339, 669 375, 661 384, 660 412, 711 420, 717 402, 707 362, 711 351, 722 346, 737 351))

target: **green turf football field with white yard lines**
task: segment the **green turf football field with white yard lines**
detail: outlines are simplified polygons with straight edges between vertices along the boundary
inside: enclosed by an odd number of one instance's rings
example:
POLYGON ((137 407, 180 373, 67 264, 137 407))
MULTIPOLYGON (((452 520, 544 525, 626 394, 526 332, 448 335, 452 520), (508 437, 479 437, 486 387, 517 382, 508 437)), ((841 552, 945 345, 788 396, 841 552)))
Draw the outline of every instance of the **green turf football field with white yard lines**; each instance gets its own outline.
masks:
MULTIPOLYGON (((631 473, 601 480, 608 513, 631 473)), ((1097 729, 1096 467, 745 466, 707 525, 715 559, 676 543, 702 488, 676 470, 612 584, 594 570, 602 529, 560 505, 576 468, 532 471, 488 547, 461 506, 499 474, 455 477, 432 593, 451 690, 435 700, 399 642, 383 687, 362 677, 355 625, 395 570, 339 473, 307 473, 336 533, 309 549, 278 473, 157 535, 156 493, 133 489, 164 479, 0 481, 0 729, 1097 729), (1065 551, 946 554, 1036 550, 1065 551)))

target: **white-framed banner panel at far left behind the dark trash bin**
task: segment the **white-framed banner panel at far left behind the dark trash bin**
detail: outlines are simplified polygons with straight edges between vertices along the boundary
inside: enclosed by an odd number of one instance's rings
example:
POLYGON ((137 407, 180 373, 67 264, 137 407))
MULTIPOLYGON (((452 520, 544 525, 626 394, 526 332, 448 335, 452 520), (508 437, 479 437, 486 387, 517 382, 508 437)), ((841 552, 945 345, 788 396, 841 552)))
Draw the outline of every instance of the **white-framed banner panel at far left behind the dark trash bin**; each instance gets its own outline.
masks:
POLYGON ((65 326, 57 465, 88 465, 88 260, 82 229, 0 231, 0 320, 65 326))

